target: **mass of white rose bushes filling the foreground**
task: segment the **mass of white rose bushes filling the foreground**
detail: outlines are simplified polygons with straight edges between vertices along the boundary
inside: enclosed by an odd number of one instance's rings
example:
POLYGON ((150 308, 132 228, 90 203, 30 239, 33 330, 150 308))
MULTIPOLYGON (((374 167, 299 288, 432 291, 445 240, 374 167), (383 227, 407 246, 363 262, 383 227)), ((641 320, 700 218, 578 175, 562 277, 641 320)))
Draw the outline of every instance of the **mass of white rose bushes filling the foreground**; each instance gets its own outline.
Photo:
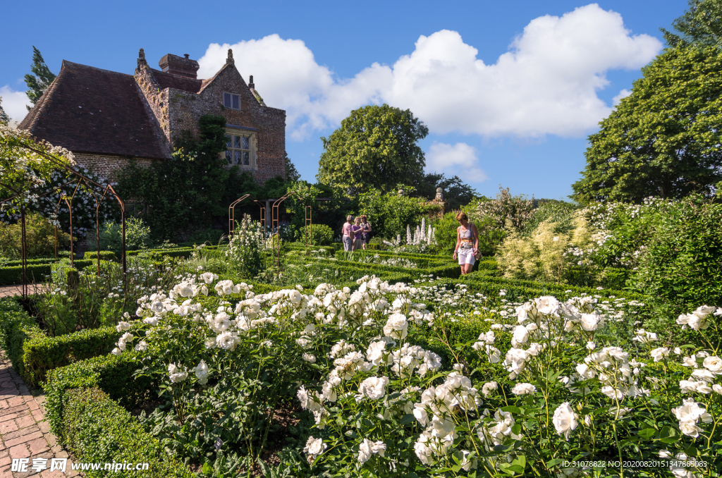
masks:
POLYGON ((706 347, 675 347, 595 297, 501 297, 504 310, 478 316, 478 339, 453 344, 448 327, 486 297, 373 276, 357 284, 256 294, 186 274, 139 300, 147 326, 119 323, 113 353, 136 354, 137 373, 170 396, 172 410, 148 419, 156 435, 236 471, 271 476, 264 453, 296 409, 306 418, 278 465, 288 476, 720 473, 722 309, 680 316, 706 347), (625 464, 664 456, 687 459, 625 464), (595 461, 613 466, 581 464, 595 461))

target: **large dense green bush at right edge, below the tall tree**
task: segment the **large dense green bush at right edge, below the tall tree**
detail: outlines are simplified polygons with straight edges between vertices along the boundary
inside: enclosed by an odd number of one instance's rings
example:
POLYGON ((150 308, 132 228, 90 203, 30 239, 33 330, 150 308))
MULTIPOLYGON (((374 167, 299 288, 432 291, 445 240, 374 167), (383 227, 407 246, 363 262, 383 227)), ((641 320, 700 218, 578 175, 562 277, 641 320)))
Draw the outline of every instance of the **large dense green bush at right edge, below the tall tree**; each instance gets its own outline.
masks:
POLYGON ((680 313, 722 306, 722 204, 690 196, 657 214, 635 289, 680 313))

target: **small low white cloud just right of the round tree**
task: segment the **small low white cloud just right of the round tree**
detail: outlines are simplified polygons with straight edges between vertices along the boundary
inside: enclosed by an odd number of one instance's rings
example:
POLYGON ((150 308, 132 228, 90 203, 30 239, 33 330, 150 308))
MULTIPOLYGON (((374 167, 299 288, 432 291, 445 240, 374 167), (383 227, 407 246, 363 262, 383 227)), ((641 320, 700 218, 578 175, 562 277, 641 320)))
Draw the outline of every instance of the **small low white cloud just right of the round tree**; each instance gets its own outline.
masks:
POLYGON ((487 175, 479 168, 477 149, 466 143, 434 142, 426 153, 426 166, 436 173, 457 175, 466 183, 481 183, 487 175))

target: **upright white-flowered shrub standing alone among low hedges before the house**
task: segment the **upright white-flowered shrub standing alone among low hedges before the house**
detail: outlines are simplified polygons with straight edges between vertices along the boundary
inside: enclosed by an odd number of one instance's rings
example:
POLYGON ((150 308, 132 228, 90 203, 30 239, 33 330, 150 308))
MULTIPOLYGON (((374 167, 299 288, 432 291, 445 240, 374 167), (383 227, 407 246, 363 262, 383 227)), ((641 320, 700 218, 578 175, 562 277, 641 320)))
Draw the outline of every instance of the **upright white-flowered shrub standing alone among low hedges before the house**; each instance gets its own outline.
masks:
POLYGON ((264 269, 263 251, 266 248, 264 233, 251 216, 243 215, 228 243, 225 255, 232 266, 238 268, 242 277, 255 277, 264 269))

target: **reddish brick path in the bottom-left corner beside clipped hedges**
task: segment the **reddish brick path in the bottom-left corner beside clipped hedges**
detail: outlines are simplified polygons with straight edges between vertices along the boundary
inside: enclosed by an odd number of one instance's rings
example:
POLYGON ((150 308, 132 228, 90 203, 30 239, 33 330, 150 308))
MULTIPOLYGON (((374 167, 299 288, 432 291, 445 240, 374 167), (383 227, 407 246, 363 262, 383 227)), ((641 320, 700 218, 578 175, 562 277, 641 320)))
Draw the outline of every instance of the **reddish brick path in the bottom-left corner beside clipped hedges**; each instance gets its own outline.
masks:
POLYGON ((0 478, 65 478, 82 476, 70 469, 50 472, 51 459, 68 458, 50 432, 43 414, 44 396, 33 397, 25 382, 13 370, 5 352, 0 351, 0 478), (29 458, 28 472, 11 472, 12 459, 29 458), (32 459, 48 459, 48 469, 32 470, 32 459))

